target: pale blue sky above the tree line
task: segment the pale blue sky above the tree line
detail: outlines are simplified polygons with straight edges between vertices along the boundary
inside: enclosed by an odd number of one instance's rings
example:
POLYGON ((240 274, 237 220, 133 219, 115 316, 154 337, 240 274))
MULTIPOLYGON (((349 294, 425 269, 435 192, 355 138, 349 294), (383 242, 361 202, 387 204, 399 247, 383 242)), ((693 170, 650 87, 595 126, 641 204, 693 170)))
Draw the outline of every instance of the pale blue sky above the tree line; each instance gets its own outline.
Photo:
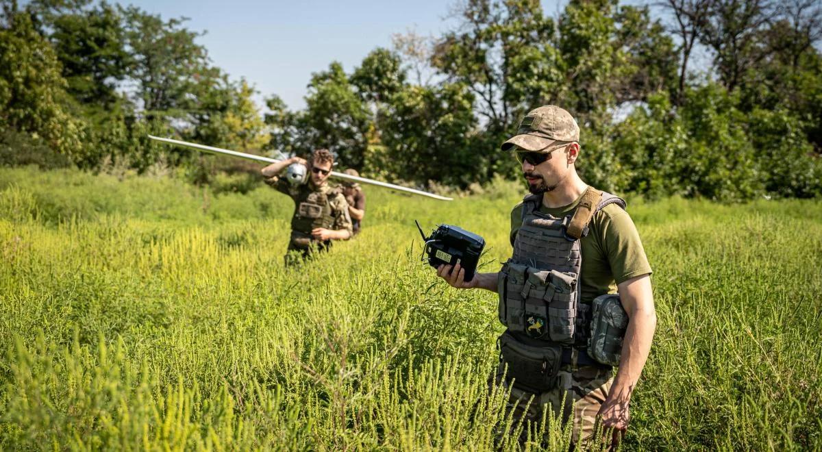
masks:
MULTIPOLYGON (((123 0, 164 19, 186 16, 190 30, 206 30, 199 42, 216 66, 256 86, 261 103, 272 94, 289 108, 305 106, 302 97, 312 72, 334 60, 352 71, 373 48, 390 47, 391 35, 414 30, 441 35, 454 0, 305 1, 123 0)), ((559 0, 543 2, 554 15, 559 0)))

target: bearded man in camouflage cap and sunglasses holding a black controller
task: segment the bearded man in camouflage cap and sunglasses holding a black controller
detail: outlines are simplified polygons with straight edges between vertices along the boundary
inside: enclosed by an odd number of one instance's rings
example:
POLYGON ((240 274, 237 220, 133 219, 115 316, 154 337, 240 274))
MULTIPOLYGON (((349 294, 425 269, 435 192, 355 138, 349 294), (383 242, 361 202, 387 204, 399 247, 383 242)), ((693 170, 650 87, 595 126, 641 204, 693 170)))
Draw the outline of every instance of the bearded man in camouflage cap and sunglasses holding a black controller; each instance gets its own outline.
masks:
POLYGON ((514 153, 530 191, 510 215, 513 255, 470 282, 459 264, 437 274, 499 294, 506 332, 492 383, 510 389, 515 419, 536 428, 550 409, 572 420, 572 441, 583 446, 599 420, 616 444, 656 326, 639 233, 625 201, 577 174, 580 127, 565 109, 533 109, 501 149, 514 153))

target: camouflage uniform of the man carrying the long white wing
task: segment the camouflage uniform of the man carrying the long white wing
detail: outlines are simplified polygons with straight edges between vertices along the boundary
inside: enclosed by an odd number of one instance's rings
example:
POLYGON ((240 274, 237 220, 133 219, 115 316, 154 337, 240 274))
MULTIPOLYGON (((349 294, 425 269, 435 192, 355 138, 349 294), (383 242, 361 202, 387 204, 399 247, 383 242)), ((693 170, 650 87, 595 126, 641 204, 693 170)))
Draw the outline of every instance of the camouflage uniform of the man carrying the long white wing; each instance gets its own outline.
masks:
POLYGON ((349 205, 345 196, 327 183, 316 187, 311 181, 294 186, 285 178, 266 178, 266 183, 277 191, 291 197, 294 201, 294 213, 291 217, 291 238, 289 239, 286 263, 297 260, 289 256, 311 256, 314 251, 325 251, 331 241, 321 242, 312 237, 314 228, 332 230, 345 229, 352 233, 349 205))

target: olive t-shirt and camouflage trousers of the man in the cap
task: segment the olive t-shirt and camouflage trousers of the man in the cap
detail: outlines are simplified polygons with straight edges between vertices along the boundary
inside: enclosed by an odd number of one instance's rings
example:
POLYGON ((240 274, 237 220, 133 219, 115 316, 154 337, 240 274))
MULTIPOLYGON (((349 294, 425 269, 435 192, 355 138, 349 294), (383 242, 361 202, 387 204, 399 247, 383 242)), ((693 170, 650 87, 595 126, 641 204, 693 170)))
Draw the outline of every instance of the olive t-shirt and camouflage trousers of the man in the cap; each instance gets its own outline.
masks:
MULTIPOLYGON (((582 197, 569 205, 554 209, 541 205, 539 211, 563 218, 574 212, 582 197)), ((522 209, 523 205, 520 203, 511 211, 511 245, 514 244, 517 231, 522 224, 522 209)), ((580 239, 580 247, 580 303, 583 305, 590 306, 593 298, 603 293, 617 293, 617 284, 651 273, 635 224, 628 212, 619 205, 606 205, 603 210, 593 215, 589 233, 580 239)), ((503 371, 504 366, 498 367, 496 381, 506 385, 506 382, 501 380, 503 371)), ((563 413, 564 421, 571 417, 574 419, 575 442, 588 440, 593 435, 596 414, 611 389, 612 367, 575 366, 570 362, 564 363, 559 368, 557 379, 559 385, 556 389, 538 394, 517 388, 515 384, 510 388, 509 408, 515 410, 515 418, 524 417, 530 421, 539 421, 542 418, 542 410, 550 406, 553 413, 563 413), (525 411, 524 407, 532 397, 529 409, 525 411), (562 406, 563 398, 566 400, 565 406, 562 406)))

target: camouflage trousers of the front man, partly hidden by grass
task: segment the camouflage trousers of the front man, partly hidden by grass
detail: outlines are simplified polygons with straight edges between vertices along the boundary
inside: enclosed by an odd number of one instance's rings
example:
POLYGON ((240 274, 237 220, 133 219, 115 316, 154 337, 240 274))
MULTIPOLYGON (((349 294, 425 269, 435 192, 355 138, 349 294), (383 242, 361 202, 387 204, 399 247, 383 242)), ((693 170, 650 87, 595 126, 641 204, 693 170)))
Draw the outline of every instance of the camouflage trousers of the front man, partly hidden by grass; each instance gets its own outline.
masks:
POLYGON ((511 386, 502 378, 505 371, 505 364, 501 362, 496 370, 496 383, 506 389, 510 388, 506 407, 513 410, 515 422, 522 420, 538 423, 543 418, 543 410, 550 408, 551 412, 547 415, 558 416, 561 413, 563 425, 573 417, 571 441, 575 445, 584 445, 591 439, 596 428, 597 413, 613 383, 613 371, 610 367, 575 368, 564 364, 558 373, 559 384, 556 389, 539 394, 518 388, 516 384, 511 386))

